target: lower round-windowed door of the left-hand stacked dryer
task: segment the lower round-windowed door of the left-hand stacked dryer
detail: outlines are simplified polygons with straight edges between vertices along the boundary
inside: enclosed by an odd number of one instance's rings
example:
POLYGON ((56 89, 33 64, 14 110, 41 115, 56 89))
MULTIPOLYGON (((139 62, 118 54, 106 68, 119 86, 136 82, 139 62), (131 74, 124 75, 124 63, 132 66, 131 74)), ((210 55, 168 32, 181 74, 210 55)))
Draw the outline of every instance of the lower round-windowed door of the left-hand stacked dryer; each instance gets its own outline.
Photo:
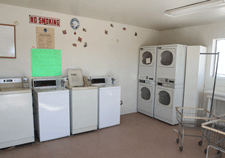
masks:
POLYGON ((152 87, 139 85, 139 98, 144 101, 152 101, 153 90, 152 87))

